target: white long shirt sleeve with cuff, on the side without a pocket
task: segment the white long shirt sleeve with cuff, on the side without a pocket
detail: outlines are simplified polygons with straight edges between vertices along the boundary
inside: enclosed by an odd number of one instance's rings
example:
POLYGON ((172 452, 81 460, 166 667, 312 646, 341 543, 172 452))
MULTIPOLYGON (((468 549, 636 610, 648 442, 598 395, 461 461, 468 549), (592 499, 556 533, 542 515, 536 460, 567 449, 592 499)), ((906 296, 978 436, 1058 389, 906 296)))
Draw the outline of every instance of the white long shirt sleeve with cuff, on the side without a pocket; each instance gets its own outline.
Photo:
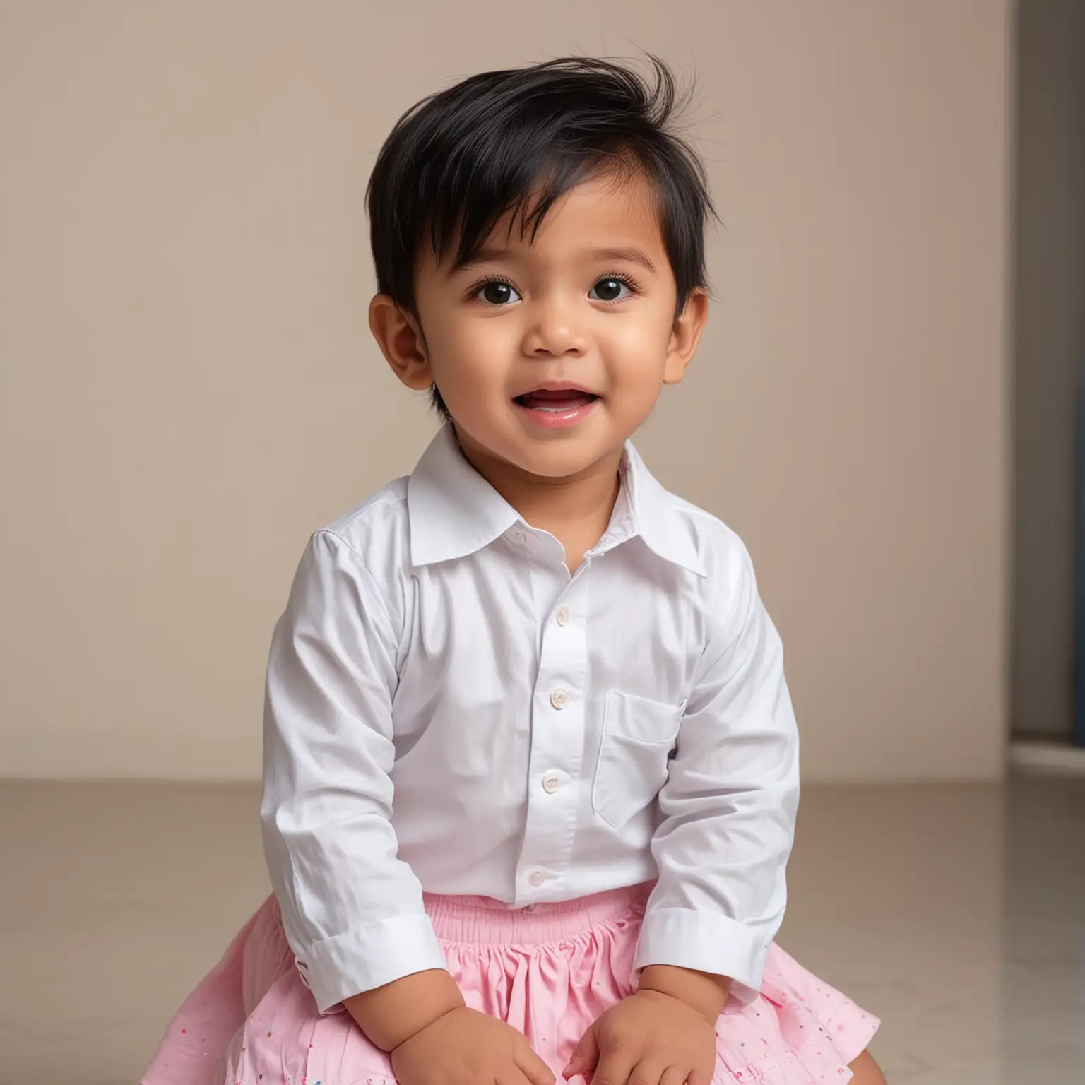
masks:
POLYGON ((321 1013, 446 962, 392 826, 395 631, 332 532, 309 540, 276 626, 264 713, 264 848, 321 1013))

